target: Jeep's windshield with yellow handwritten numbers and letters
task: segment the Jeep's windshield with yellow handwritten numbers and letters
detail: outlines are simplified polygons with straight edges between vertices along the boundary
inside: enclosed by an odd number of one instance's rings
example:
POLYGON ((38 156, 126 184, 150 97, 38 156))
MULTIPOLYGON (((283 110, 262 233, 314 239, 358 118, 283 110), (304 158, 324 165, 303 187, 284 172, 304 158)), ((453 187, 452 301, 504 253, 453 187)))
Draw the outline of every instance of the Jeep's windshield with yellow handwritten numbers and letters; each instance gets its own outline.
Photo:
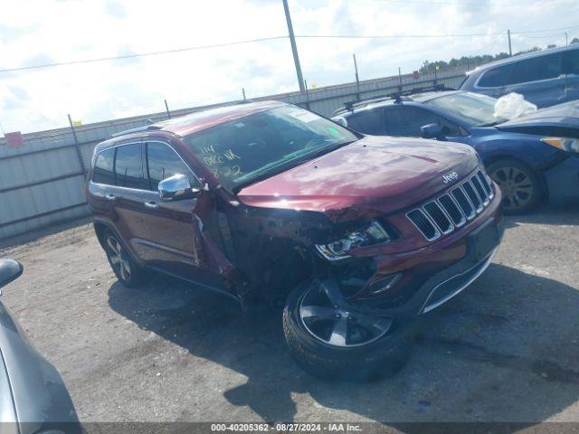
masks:
POLYGON ((185 144, 233 191, 357 139, 315 113, 284 106, 205 129, 185 137, 185 144))

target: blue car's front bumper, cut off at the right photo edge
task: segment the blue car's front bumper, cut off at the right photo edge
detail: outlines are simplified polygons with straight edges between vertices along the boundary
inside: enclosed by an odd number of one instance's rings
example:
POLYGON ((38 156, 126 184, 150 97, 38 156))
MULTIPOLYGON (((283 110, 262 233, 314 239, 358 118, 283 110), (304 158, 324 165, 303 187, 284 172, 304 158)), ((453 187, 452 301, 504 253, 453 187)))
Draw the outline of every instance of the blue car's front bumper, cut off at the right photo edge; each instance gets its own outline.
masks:
POLYGON ((549 200, 566 203, 579 200, 579 156, 570 156, 545 172, 549 200))

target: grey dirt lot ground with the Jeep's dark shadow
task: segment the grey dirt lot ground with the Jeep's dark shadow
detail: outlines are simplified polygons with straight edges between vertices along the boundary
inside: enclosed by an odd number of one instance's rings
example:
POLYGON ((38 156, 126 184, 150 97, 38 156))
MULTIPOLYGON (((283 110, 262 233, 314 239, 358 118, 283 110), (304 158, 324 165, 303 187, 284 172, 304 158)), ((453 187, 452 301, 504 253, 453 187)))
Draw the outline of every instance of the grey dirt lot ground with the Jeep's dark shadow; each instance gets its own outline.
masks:
POLYGON ((506 226, 494 263, 380 382, 302 373, 279 316, 166 278, 123 288, 88 224, 0 250, 25 269, 3 301, 84 422, 579 421, 579 208, 506 226))

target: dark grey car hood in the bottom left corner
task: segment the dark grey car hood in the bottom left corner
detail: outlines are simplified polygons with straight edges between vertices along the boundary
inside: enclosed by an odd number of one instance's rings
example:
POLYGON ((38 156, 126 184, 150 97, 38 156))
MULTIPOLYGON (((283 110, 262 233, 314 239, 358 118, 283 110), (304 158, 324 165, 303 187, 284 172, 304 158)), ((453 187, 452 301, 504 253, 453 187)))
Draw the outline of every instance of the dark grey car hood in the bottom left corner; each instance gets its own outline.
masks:
MULTIPOLYGON (((8 309, 0 303, 0 352, 21 432, 54 426, 53 423, 78 423, 69 393, 60 374, 28 344, 8 309), (52 422, 52 423, 47 423, 52 422)), ((2 360, 0 358, 0 361, 2 360)), ((10 393, 2 390, 0 393, 10 393)), ((70 427, 74 430, 78 427, 70 427)))

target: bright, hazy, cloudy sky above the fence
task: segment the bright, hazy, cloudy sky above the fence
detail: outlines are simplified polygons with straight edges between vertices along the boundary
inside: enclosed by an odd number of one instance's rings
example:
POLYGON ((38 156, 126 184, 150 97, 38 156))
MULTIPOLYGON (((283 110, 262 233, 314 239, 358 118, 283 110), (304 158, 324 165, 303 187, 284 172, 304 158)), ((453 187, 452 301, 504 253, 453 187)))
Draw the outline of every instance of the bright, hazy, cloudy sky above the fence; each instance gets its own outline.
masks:
MULTIPOLYGON (((288 0, 304 78, 318 87, 425 60, 565 44, 576 0, 288 0), (522 33, 542 31, 535 33, 522 33), (458 34, 479 36, 454 36, 458 34), (492 34, 500 33, 500 34, 492 34), (426 37, 415 37, 415 36, 426 37), (394 37, 397 36, 397 37, 394 37), (398 37, 413 36, 413 37, 398 37)), ((0 70, 287 36, 281 0, 0 0, 0 70)), ((573 27, 573 28, 571 28, 573 27)), ((0 72, 2 132, 32 132, 298 90, 289 40, 0 72)))

